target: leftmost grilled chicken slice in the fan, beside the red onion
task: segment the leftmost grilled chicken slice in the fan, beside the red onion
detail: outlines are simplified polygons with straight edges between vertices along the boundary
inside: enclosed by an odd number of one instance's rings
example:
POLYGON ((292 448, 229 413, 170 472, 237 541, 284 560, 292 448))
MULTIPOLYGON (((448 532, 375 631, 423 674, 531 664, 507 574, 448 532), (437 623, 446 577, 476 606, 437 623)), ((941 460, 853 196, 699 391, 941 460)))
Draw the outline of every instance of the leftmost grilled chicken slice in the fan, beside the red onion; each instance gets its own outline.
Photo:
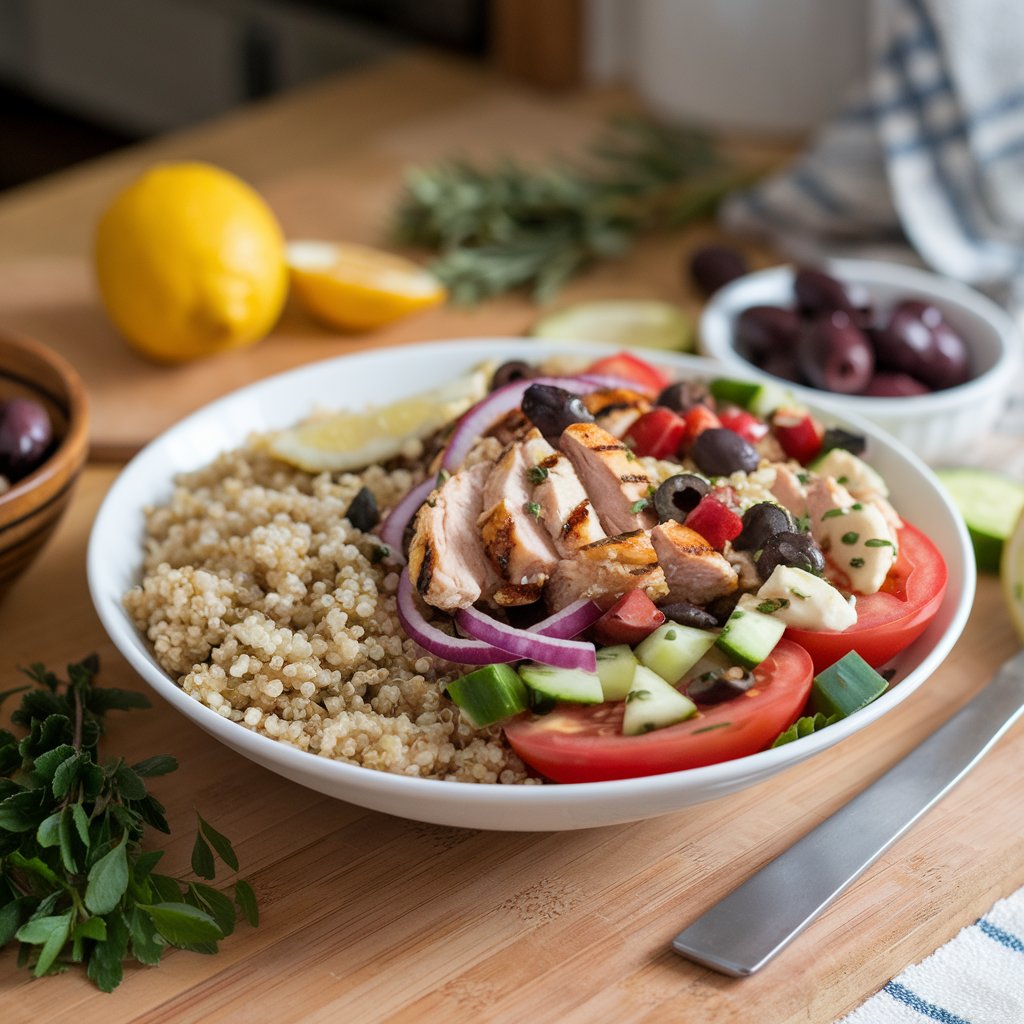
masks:
POLYGON ((476 532, 489 472, 489 464, 480 464, 450 476, 417 514, 409 571, 435 608, 468 608, 494 575, 476 532))

